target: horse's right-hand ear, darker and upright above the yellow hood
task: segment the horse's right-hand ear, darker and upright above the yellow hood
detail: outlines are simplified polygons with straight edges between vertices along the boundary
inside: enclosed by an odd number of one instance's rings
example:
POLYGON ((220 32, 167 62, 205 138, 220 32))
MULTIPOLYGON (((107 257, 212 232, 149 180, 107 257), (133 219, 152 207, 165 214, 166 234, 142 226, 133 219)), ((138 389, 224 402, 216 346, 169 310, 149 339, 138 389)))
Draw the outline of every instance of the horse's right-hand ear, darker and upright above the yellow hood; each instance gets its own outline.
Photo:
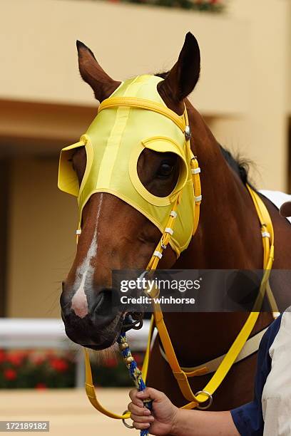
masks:
POLYGON ((188 32, 178 61, 168 72, 165 80, 160 82, 158 89, 163 90, 174 103, 179 103, 193 91, 199 75, 200 49, 195 36, 188 32))

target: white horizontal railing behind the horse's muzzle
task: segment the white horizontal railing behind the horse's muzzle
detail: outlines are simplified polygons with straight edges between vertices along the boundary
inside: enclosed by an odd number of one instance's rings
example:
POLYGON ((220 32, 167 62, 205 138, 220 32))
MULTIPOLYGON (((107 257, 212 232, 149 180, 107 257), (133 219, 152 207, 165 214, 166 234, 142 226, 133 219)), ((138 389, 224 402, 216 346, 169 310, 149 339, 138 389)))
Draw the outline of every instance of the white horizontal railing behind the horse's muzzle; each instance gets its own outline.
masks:
MULTIPOLYGON (((144 351, 149 321, 141 330, 129 331, 128 342, 134 351, 144 351)), ((82 348, 71 342, 61 319, 0 318, 0 348, 58 348, 76 351, 76 388, 84 385, 82 348)))

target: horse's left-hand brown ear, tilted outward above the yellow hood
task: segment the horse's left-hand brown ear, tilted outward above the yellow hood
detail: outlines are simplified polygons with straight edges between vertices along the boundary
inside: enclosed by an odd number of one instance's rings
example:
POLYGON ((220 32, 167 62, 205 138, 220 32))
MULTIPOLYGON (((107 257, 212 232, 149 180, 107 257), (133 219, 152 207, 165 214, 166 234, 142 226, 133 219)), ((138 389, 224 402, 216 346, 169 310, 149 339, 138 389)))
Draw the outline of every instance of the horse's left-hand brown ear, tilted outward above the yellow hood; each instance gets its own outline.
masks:
POLYGON ((81 41, 76 41, 78 50, 78 66, 83 81, 94 91, 97 100, 102 102, 116 90, 121 82, 113 81, 98 64, 93 51, 81 41))

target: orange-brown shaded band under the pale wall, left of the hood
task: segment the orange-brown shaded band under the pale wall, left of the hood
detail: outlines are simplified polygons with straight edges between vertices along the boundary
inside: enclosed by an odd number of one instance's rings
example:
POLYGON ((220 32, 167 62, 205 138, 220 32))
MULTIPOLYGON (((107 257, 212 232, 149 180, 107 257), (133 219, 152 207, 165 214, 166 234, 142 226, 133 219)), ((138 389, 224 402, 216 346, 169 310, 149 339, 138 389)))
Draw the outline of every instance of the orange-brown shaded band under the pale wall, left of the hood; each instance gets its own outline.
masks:
POLYGON ((0 154, 57 155, 96 116, 95 106, 0 100, 0 154))

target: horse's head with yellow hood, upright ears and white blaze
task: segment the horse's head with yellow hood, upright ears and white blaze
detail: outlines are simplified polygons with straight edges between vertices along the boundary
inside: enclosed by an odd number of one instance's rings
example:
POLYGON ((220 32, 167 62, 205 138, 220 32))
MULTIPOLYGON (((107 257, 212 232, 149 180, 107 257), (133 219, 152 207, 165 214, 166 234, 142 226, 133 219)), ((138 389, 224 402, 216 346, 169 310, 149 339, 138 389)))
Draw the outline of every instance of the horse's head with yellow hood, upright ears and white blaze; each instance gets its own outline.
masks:
POLYGON ((168 73, 121 83, 103 71, 83 43, 78 41, 77 48, 81 77, 101 105, 86 135, 61 153, 58 185, 78 197, 80 210, 76 258, 63 283, 61 313, 72 341, 104 349, 116 341, 125 316, 112 307, 111 273, 146 269, 181 190, 188 190, 184 221, 178 217, 160 266, 172 267, 192 237, 188 197, 193 186, 178 125, 186 116, 184 99, 198 82, 200 51, 188 33, 168 73), (110 108, 114 98, 133 97, 170 109, 176 123, 153 110, 110 108))

